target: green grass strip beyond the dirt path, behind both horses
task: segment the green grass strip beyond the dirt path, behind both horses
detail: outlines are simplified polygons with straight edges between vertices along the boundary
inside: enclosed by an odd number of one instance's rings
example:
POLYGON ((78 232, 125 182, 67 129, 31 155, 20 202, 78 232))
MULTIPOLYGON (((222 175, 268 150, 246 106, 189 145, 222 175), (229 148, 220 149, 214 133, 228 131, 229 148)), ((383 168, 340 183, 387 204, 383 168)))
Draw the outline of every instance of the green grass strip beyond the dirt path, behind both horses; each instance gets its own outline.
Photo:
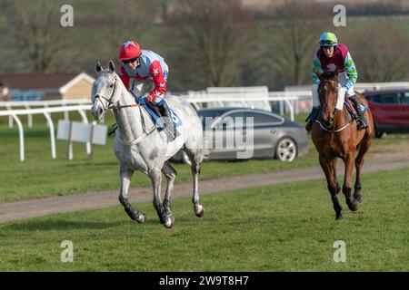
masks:
MULTIPOLYGON (((70 118, 79 116, 70 114, 70 118)), ((297 117, 303 121, 304 116, 297 117)), ((55 124, 62 115, 55 114, 55 124)), ((91 120, 89 118, 88 120, 91 120)), ((74 160, 66 160, 66 142, 56 140, 57 159, 51 158, 49 130, 44 118, 35 117, 34 128, 25 124, 25 161, 19 160, 18 130, 10 130, 7 120, 0 120, 0 202, 12 202, 28 198, 62 196, 78 192, 119 189, 119 166, 112 151, 113 136, 105 146, 95 146, 95 158, 89 160, 85 144, 74 143, 74 160)), ((108 118, 106 124, 114 121, 108 118)), ((409 135, 389 135, 383 140, 374 140, 374 148, 392 142, 407 142, 409 135)), ((371 154, 368 155, 368 160, 371 154)), ((279 160, 246 160, 240 162, 205 161, 201 179, 214 179, 249 173, 265 173, 274 170, 318 166, 317 154, 310 141, 310 150, 294 162, 279 160)), ((192 180, 190 168, 185 164, 175 164, 179 172, 176 182, 192 180)), ((150 180, 141 172, 136 172, 131 187, 150 186, 150 180)))

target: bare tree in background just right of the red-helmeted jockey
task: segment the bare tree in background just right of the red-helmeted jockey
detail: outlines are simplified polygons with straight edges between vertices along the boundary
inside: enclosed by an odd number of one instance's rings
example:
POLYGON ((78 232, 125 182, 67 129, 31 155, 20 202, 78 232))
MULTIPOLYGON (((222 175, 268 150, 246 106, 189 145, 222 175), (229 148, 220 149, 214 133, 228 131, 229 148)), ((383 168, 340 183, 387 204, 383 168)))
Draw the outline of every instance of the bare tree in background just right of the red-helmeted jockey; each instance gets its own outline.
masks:
POLYGON ((179 30, 173 61, 185 84, 229 86, 249 50, 252 18, 235 0, 182 0, 169 16, 179 30))

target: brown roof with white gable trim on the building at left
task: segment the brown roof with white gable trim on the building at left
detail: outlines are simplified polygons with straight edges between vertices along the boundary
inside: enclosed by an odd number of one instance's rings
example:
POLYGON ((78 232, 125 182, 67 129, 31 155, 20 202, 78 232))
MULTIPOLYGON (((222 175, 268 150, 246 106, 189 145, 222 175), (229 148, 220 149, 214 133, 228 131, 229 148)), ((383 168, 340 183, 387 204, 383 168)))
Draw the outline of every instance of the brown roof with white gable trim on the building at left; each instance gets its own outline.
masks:
POLYGON ((0 82, 4 82, 10 89, 19 90, 58 90, 61 92, 82 79, 94 82, 94 79, 86 73, 0 73, 0 82))

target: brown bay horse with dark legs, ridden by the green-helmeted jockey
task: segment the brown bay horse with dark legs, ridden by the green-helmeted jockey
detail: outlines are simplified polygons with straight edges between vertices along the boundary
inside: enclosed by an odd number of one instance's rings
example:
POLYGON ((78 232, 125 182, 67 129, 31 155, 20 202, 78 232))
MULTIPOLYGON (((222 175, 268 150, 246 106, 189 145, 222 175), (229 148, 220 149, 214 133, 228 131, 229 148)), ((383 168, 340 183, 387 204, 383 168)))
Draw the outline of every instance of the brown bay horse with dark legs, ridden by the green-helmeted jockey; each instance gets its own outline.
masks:
POLYGON ((372 144, 374 121, 364 96, 359 92, 355 92, 359 102, 368 108, 364 113, 364 117, 368 121, 368 128, 358 131, 356 121, 347 111, 346 103, 344 103, 343 110, 335 110, 338 93, 338 70, 315 73, 320 79, 318 87, 320 111, 314 121, 312 139, 318 151, 319 162, 324 170, 327 187, 334 204, 335 220, 339 220, 343 218, 341 213, 343 208, 337 198, 337 194, 341 191, 336 177, 337 158, 344 161, 344 185, 342 190, 346 204, 350 210, 356 211, 362 203, 361 169, 364 164, 364 156, 372 144), (358 152, 357 155, 356 152, 358 152), (354 195, 351 196, 351 180, 354 167, 356 169, 356 178, 354 195))

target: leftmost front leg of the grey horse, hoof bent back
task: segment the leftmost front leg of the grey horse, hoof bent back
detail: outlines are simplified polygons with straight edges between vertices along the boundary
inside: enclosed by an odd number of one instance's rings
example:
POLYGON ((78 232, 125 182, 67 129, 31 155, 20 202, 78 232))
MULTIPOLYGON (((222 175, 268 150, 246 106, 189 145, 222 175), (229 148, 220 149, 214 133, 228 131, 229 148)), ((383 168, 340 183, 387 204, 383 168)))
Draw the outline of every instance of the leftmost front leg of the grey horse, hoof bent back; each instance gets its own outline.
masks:
POLYGON ((137 212, 135 208, 132 208, 128 201, 128 189, 131 184, 131 178, 134 174, 134 169, 127 168, 124 164, 120 165, 119 169, 121 177, 121 189, 119 191, 119 202, 124 206, 125 212, 128 214, 129 218, 137 221, 138 223, 145 222, 145 214, 142 212, 137 212))

